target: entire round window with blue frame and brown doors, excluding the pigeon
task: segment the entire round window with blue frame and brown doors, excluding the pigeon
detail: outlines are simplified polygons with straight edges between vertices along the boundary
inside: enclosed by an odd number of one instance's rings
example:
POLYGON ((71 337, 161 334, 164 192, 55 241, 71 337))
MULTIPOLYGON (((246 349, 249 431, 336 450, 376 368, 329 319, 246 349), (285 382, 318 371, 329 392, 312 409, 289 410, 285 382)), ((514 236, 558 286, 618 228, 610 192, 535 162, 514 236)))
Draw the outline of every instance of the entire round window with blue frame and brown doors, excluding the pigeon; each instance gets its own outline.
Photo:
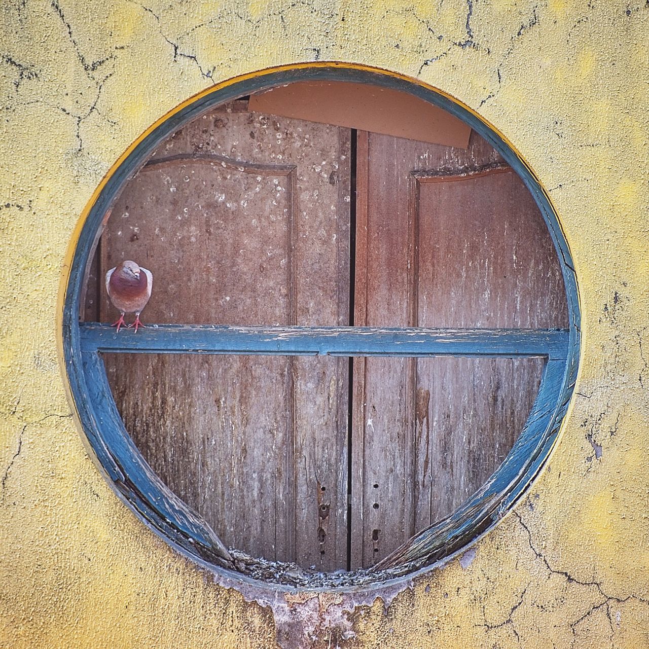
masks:
POLYGON ((282 69, 114 169, 64 343, 101 467, 167 541, 359 585, 456 552, 530 482, 572 391, 576 282, 541 186, 478 117, 385 73, 282 69), (127 260, 154 281, 137 332, 110 326, 127 260))

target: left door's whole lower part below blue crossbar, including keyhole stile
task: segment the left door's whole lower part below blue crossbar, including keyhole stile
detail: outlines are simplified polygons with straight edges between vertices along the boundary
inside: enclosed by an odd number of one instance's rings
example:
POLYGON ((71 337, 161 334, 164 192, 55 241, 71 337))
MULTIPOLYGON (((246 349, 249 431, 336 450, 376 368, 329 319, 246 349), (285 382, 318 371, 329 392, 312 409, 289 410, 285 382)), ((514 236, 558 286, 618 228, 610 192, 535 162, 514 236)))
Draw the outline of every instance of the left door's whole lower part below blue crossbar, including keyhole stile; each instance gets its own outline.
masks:
POLYGON ((337 520, 347 515, 347 466, 339 458, 347 413, 336 403, 344 361, 129 356, 125 367, 124 354, 104 354, 127 430, 224 543, 324 570, 345 565, 347 530, 340 533, 337 520))

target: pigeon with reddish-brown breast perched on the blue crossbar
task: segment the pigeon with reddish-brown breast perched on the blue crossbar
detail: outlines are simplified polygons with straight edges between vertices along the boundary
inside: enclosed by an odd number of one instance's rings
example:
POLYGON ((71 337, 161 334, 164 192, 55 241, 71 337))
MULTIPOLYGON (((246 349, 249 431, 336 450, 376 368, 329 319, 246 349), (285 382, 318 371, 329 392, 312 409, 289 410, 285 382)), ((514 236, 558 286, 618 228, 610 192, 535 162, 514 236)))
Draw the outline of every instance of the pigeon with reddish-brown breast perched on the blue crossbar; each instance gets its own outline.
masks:
POLYGON ((119 320, 111 325, 117 327, 116 333, 119 333, 119 327, 126 324, 125 313, 135 313, 134 323, 129 324, 127 328, 134 326, 137 333, 138 326, 144 326, 140 322, 140 313, 149 302, 152 286, 151 271, 141 268, 135 262, 121 262, 106 273, 106 292, 113 306, 120 313, 119 320))

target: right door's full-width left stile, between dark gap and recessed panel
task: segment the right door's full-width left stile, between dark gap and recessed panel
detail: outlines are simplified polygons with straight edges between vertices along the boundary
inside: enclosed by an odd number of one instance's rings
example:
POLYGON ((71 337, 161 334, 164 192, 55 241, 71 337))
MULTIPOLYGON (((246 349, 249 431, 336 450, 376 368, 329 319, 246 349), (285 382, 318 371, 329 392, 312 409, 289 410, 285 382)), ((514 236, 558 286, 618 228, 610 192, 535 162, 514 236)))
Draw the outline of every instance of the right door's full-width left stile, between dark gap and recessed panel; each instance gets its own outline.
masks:
MULTIPOLYGON (((408 327, 411 233, 408 174, 401 172, 403 147, 410 141, 374 133, 364 138, 358 147, 358 174, 367 178, 367 201, 357 206, 356 217, 365 228, 365 251, 357 255, 356 277, 365 284, 356 289, 354 324, 408 327)), ((404 435, 403 424, 413 416, 411 365, 391 358, 366 358, 361 371, 354 365, 353 410, 362 410, 363 416, 352 430, 352 475, 360 478, 352 487, 352 569, 389 554, 410 528, 411 501, 404 497, 404 485, 411 474, 412 437, 404 435)))

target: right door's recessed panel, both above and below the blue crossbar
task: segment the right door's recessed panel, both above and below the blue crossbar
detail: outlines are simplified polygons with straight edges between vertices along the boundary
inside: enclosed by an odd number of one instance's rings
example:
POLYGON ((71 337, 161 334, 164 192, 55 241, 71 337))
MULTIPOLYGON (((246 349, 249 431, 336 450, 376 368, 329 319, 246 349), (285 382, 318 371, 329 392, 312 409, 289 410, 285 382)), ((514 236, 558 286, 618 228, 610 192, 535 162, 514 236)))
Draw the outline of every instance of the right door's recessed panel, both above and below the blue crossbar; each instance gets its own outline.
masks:
MULTIPOLYGON (((549 232, 511 168, 491 165, 473 173, 419 171, 412 176, 417 324, 567 323, 549 232)), ((427 465, 425 459, 417 461, 426 471, 413 482, 415 528, 450 514, 500 465, 526 422, 542 369, 542 362, 530 361, 418 361, 417 393, 430 395, 435 429, 434 435, 426 431, 426 441, 437 459, 427 465), (449 484, 454 487, 448 489, 449 484)), ((421 433, 415 432, 417 439, 421 433)))

